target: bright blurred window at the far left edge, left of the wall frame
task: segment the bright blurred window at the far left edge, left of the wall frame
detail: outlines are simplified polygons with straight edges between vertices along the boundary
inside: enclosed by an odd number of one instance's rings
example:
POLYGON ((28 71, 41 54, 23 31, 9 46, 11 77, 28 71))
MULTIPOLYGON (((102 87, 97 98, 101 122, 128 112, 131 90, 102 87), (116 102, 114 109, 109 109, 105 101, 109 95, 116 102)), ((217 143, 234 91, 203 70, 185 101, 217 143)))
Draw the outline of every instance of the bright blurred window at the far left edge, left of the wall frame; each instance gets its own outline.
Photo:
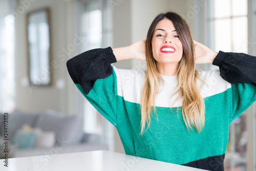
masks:
POLYGON ((15 107, 14 17, 0 17, 0 113, 15 107))

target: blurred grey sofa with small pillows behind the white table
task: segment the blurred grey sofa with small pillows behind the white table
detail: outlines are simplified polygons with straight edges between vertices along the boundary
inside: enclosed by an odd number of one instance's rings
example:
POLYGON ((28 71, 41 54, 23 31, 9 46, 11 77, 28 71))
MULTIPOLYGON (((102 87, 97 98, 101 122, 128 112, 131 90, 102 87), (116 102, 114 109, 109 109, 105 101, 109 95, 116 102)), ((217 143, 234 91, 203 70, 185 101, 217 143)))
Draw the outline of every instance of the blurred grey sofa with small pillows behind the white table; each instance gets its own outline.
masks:
POLYGON ((16 158, 101 149, 108 150, 108 145, 102 143, 99 135, 83 131, 83 117, 80 115, 70 116, 53 110, 39 113, 15 110, 8 117, 0 115, 1 158, 6 155, 16 158), (5 120, 8 121, 6 126, 5 120), (5 134, 7 131, 8 135, 5 134))

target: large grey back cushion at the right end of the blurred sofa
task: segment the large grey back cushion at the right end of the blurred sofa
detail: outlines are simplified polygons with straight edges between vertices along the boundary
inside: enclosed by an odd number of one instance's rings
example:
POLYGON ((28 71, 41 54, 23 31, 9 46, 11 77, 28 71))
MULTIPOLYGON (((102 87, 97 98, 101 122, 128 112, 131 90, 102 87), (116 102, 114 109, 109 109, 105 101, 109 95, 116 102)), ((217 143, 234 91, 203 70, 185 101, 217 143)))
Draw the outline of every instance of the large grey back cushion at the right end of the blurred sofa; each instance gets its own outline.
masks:
POLYGON ((67 116, 53 110, 46 110, 36 120, 35 127, 42 131, 53 131, 56 135, 56 145, 77 144, 83 135, 82 116, 67 116), (60 142, 61 140, 62 142, 60 142))

